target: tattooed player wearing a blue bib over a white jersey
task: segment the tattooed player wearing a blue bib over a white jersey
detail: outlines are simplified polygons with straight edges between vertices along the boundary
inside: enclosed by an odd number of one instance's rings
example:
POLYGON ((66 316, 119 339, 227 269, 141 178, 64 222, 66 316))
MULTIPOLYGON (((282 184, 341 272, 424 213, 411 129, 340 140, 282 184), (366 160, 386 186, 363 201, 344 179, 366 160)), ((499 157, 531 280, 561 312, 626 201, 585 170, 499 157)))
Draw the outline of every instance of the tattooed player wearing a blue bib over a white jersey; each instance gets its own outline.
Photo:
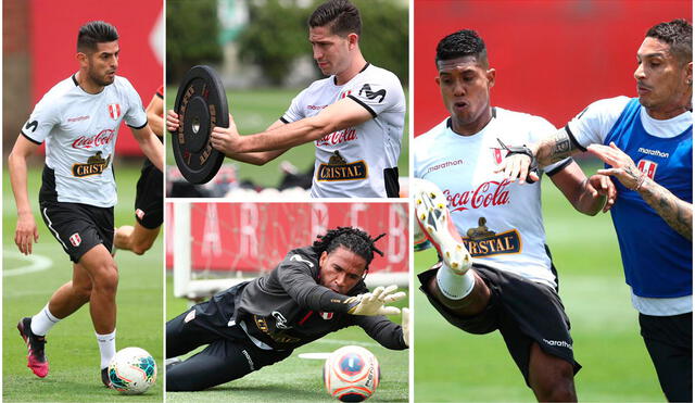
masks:
MULTIPOLYGON (((637 98, 596 101, 530 144, 541 165, 589 150, 614 178, 611 216, 641 333, 669 401, 693 401, 693 27, 653 26, 637 50, 637 98)), ((526 178, 529 155, 505 162, 526 178)))

